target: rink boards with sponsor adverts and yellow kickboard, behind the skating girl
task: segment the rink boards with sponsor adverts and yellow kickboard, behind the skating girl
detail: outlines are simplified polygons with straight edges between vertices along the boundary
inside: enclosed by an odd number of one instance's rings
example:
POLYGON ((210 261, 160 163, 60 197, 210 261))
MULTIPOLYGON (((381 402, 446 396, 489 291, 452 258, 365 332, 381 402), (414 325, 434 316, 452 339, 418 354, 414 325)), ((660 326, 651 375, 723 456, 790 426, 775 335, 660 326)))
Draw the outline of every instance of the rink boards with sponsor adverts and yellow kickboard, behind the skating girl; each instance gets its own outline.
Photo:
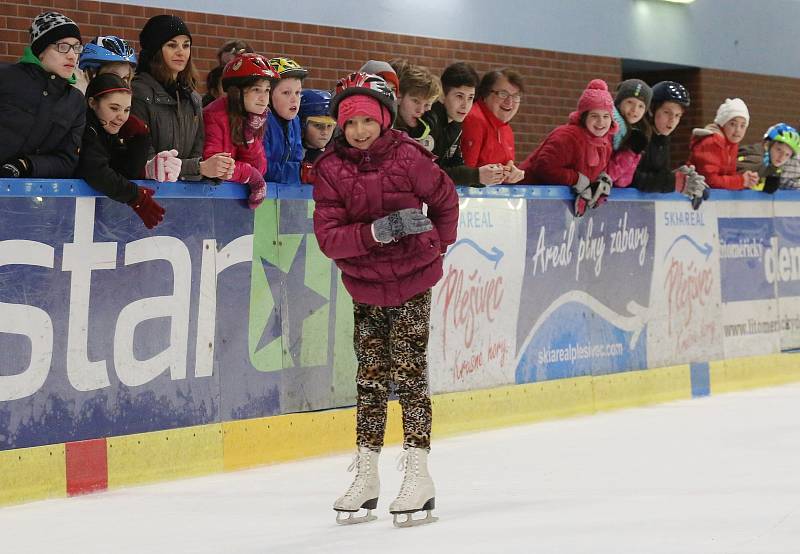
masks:
MULTIPOLYGON (((80 181, 9 183, 0 504, 352 448, 352 301, 309 187, 270 185, 253 213, 239 185, 161 186, 148 231, 80 181)), ((563 187, 460 194, 432 300, 436 436, 800 380, 791 193, 695 212, 615 190, 579 220, 563 187)))

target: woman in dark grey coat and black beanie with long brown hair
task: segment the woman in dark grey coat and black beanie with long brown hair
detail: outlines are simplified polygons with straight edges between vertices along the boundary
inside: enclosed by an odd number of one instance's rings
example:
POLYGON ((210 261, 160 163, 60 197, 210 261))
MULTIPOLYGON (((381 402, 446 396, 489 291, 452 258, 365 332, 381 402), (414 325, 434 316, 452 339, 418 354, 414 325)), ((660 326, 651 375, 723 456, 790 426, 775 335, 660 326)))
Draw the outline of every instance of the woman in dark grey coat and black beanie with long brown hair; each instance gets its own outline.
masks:
POLYGON ((180 179, 230 179, 234 161, 229 153, 202 159, 203 108, 195 91, 192 35, 186 24, 174 15, 152 17, 139 33, 139 44, 132 112, 150 128, 151 157, 175 149, 181 159, 180 179))

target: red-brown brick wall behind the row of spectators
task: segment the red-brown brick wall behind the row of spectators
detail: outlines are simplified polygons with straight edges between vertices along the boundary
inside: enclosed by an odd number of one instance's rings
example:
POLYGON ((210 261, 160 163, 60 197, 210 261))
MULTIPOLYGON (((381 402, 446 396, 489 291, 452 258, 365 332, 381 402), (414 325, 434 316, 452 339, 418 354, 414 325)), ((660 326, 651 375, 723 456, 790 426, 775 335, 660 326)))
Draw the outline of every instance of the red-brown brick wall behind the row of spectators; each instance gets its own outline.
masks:
MULTIPOLYGON (((13 61, 21 55, 29 41, 27 29, 31 20, 46 9, 63 11, 75 19, 85 40, 100 34, 117 34, 134 43, 147 19, 165 11, 88 0, 3 3, 0 4, 0 61, 13 61)), ((331 88, 337 78, 357 69, 367 59, 403 56, 435 72, 453 61, 469 62, 479 73, 501 66, 513 67, 525 78, 522 105, 512 122, 518 160, 531 152, 548 131, 566 120, 591 79, 607 80, 612 90, 621 79, 621 62, 617 58, 217 14, 177 10, 171 13, 182 17, 192 31, 194 60, 203 79, 216 63, 216 49, 232 38, 248 41, 257 52, 295 58, 311 70, 306 86, 314 88, 331 88)), ((749 141, 758 140, 768 125, 782 119, 800 123, 800 103, 791 101, 800 95, 800 79, 709 69, 686 73, 683 79, 694 104, 676 132, 676 160, 685 159, 691 126, 711 121, 726 96, 739 95, 750 105, 753 123, 749 141)))

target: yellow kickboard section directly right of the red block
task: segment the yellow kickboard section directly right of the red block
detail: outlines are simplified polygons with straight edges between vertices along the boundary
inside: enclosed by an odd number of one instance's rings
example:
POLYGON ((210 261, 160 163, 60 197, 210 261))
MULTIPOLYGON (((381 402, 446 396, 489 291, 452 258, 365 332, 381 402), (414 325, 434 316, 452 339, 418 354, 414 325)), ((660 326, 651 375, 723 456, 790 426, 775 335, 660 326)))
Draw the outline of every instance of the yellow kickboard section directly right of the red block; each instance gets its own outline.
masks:
POLYGON ((108 439, 108 488, 222 471, 222 425, 108 439))

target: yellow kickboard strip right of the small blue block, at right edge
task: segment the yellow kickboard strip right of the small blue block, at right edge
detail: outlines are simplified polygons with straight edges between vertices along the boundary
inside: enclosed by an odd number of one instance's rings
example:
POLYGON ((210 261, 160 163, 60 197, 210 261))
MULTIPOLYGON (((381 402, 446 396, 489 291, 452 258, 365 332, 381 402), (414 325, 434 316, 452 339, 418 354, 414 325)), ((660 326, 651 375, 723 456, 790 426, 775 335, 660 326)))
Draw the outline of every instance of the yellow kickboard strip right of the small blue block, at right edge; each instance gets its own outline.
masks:
POLYGON ((770 354, 709 362, 711 394, 800 381, 800 354, 770 354))

